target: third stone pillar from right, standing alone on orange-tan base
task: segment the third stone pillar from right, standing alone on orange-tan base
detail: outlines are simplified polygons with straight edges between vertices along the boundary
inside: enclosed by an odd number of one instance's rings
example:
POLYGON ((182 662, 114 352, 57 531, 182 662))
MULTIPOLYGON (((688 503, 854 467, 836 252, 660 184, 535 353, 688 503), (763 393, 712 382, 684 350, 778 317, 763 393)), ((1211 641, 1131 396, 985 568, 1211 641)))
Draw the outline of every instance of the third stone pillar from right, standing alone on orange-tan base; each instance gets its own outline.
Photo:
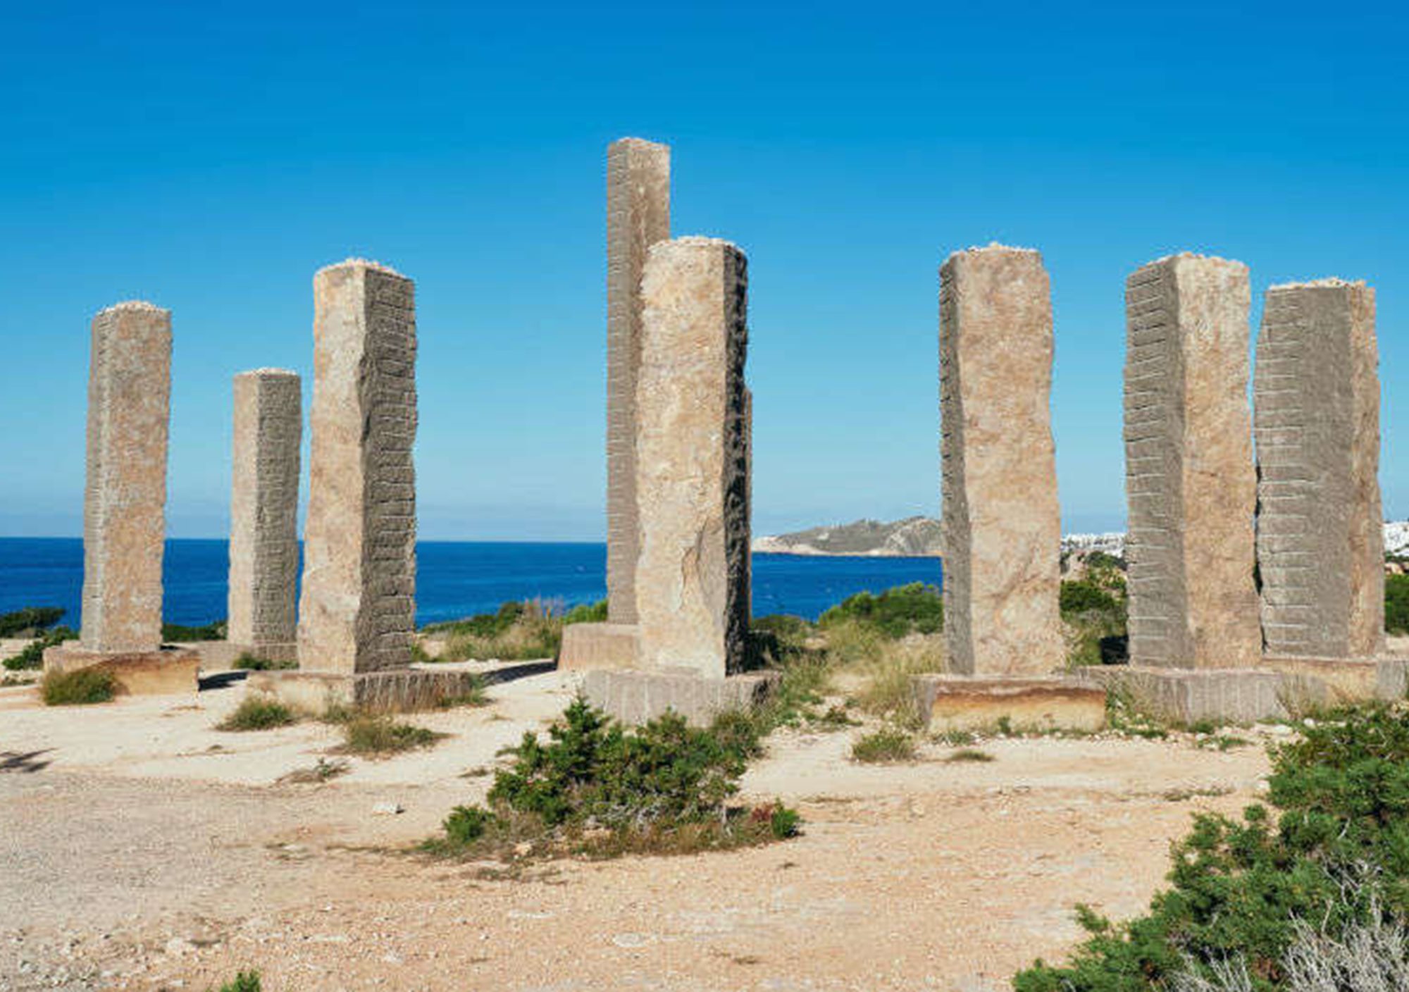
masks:
POLYGON ((940 269, 944 640, 950 671, 1061 668, 1053 313, 1041 255, 971 248, 940 269))

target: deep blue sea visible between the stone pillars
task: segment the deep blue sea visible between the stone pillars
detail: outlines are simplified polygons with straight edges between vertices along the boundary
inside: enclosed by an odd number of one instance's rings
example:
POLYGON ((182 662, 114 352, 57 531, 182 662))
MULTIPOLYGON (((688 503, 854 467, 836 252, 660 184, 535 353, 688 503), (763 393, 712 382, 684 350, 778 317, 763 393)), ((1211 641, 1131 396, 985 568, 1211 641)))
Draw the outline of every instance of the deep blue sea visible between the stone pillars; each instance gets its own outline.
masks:
MULTIPOLYGON (((166 541, 166 623, 204 624, 225 617, 225 541, 166 541)), ((416 545, 418 624, 488 613, 511 599, 564 607, 606 596, 604 544, 421 541, 416 545)), ((754 616, 795 613, 814 620, 861 590, 906 582, 940 583, 938 558, 805 558, 754 555, 754 616)), ((77 627, 83 596, 83 541, 0 537, 0 613, 62 606, 77 627)))

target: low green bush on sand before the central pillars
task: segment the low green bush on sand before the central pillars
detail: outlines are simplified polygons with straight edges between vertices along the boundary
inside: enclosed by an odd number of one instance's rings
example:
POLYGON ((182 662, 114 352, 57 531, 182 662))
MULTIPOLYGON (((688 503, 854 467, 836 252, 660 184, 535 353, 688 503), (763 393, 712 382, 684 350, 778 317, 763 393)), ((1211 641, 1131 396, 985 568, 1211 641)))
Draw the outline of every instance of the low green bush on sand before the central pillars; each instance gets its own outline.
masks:
POLYGON ((796 813, 781 805, 730 806, 754 748, 751 724, 735 717, 702 730, 666 713, 627 730, 576 699, 547 743, 524 734, 513 764, 495 774, 488 809, 457 806, 426 848, 493 854, 527 843, 541 855, 610 855, 790 836, 796 813))

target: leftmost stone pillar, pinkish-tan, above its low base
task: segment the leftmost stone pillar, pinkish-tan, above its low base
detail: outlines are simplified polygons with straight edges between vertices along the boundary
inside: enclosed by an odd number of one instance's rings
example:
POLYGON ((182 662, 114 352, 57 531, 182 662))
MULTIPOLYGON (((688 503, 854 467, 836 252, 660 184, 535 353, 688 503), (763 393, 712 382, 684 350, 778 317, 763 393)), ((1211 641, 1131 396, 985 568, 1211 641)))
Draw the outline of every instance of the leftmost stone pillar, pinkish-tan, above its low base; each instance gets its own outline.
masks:
POLYGON ((93 318, 83 497, 86 651, 162 641, 172 316, 118 303, 93 318))

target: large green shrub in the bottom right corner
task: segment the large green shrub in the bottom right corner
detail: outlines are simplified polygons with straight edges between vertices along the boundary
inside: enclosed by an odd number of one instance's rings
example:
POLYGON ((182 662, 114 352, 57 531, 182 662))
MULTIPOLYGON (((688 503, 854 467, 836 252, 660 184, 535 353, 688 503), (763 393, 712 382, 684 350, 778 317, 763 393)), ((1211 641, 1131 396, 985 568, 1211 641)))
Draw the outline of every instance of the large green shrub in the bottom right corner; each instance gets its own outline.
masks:
POLYGON ((1089 910, 1091 937, 1064 967, 1037 962, 1016 992, 1140 992, 1193 968, 1246 961, 1251 988, 1288 989, 1298 927, 1336 938, 1409 912, 1409 717, 1344 713, 1272 751, 1268 798, 1241 819, 1199 816, 1174 848, 1171 888, 1113 924, 1089 910))

